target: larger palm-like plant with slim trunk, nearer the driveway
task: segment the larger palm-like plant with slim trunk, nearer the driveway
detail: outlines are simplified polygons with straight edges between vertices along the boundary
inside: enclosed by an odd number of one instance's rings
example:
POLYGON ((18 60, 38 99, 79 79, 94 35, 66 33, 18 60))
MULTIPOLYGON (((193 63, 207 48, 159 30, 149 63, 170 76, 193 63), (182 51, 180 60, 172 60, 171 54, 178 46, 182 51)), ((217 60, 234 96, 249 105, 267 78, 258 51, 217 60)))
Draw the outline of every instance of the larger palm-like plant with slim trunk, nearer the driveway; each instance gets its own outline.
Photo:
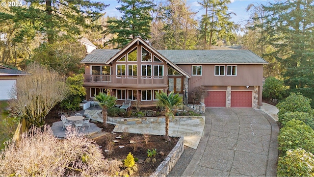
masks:
POLYGON ((174 117, 173 109, 174 107, 182 106, 183 100, 182 97, 179 96, 179 94, 174 94, 174 91, 170 92, 170 94, 167 96, 164 92, 156 92, 156 98, 157 98, 157 107, 164 108, 166 110, 165 118, 166 118, 166 133, 165 136, 169 139, 168 130, 169 130, 169 118, 174 117))

